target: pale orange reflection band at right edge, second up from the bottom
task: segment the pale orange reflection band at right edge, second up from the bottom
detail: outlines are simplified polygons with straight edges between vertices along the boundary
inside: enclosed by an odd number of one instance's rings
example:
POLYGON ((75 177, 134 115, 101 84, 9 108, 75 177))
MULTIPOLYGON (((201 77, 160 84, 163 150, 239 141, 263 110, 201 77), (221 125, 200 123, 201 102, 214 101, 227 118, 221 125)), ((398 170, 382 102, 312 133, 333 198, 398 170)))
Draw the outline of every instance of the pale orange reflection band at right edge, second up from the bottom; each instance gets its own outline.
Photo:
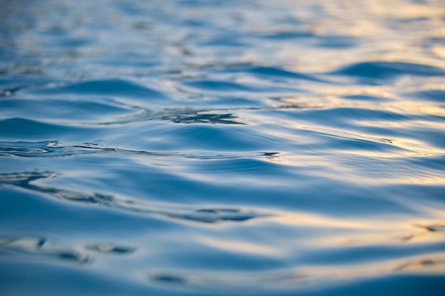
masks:
MULTIPOLYGON (((420 208, 419 210, 422 210, 420 208)), ((427 219, 412 216, 381 216, 378 219, 282 213, 270 221, 306 229, 299 243, 312 246, 375 246, 400 243, 445 242, 445 212, 423 209, 427 219), (316 233, 320 235, 317 236, 316 233)))

